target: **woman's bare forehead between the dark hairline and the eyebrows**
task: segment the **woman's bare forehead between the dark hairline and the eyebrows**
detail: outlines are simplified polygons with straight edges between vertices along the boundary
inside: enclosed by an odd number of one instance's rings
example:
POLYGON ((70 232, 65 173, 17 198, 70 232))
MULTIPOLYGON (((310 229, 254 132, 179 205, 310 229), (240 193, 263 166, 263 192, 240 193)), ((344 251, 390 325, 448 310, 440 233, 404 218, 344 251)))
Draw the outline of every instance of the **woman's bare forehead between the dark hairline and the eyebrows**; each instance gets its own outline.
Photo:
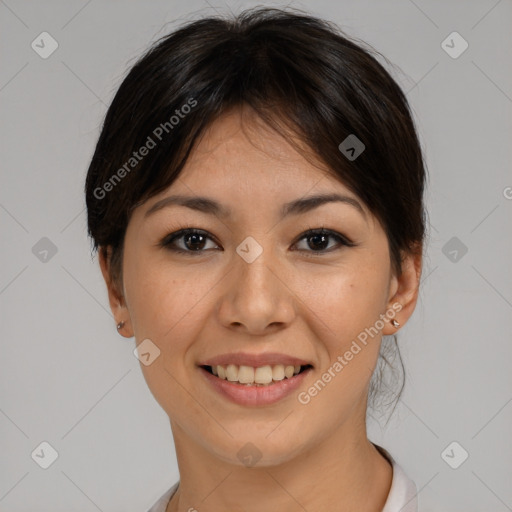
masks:
POLYGON ((238 183, 295 193, 327 180, 337 191, 348 191, 295 134, 284 137, 249 108, 226 113, 204 131, 180 179, 201 188, 238 183))

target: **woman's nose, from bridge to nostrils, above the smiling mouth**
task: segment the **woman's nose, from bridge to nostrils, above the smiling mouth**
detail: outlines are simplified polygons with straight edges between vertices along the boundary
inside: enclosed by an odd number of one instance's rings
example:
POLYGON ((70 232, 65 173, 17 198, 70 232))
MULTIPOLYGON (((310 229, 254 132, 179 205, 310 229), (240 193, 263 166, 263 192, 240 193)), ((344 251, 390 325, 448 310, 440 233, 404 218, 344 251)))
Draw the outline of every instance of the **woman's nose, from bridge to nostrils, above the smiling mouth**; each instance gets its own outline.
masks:
POLYGON ((296 295, 270 251, 263 251, 251 263, 236 255, 226 283, 218 309, 226 328, 261 336, 293 321, 296 295))

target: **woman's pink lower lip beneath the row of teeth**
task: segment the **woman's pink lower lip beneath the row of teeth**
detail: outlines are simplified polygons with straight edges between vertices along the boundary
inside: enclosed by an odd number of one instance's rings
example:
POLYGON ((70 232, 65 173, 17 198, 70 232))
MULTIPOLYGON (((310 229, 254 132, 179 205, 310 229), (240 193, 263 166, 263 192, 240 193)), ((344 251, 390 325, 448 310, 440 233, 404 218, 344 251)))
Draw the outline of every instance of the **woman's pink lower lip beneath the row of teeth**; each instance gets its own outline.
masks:
POLYGON ((232 402, 239 405, 270 405, 278 402, 295 391, 304 381, 306 376, 312 370, 307 368, 292 378, 269 384, 268 386, 247 386, 220 379, 208 370, 199 367, 206 380, 212 385, 213 389, 232 402))

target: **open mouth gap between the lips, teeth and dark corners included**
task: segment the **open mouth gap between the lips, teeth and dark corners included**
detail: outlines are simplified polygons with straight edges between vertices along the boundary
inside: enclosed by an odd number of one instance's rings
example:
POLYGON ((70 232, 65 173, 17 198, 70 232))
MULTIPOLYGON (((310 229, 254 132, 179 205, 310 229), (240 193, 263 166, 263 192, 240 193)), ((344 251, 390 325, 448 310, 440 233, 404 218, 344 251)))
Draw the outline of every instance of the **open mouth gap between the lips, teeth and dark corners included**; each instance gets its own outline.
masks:
POLYGON ((259 367, 228 364, 201 365, 204 371, 219 380, 242 387, 269 387, 289 381, 313 368, 312 365, 265 365, 259 367))

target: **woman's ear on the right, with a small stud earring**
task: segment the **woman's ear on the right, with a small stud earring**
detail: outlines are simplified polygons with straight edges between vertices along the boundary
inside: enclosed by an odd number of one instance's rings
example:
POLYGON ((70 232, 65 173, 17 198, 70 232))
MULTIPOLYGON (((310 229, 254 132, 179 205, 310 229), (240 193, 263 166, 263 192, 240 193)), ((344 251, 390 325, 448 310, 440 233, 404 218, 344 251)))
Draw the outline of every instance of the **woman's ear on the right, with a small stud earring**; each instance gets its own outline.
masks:
POLYGON ((385 323, 382 334, 395 334, 397 329, 403 327, 414 312, 420 288, 421 266, 422 248, 416 254, 403 253, 402 274, 393 276, 389 286, 390 292, 386 311, 395 312, 395 316, 393 317, 391 316, 392 313, 391 315, 388 313, 389 320, 385 323), (400 323, 399 327, 393 326, 391 323, 393 318, 400 323))

